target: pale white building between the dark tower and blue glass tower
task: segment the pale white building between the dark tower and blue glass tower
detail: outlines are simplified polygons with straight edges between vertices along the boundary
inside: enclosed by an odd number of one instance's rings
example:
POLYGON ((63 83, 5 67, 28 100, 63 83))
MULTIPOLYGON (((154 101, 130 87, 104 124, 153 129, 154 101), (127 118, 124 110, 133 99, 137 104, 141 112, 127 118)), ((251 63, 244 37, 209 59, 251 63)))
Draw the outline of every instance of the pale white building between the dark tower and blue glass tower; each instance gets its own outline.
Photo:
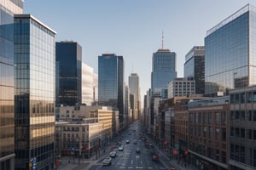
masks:
POLYGON ((82 63, 82 103, 85 105, 92 105, 95 102, 95 78, 93 68, 82 63))

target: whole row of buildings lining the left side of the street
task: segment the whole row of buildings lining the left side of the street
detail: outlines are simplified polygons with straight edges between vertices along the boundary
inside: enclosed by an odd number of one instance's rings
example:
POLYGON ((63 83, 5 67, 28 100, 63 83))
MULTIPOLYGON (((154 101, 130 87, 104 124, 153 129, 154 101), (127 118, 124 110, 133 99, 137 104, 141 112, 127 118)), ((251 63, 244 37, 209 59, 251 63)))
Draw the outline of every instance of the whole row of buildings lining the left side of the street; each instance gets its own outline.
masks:
POLYGON ((122 56, 98 57, 98 76, 78 42, 0 1, 0 169, 54 169, 55 156, 88 158, 138 119, 139 78, 125 85, 122 56))

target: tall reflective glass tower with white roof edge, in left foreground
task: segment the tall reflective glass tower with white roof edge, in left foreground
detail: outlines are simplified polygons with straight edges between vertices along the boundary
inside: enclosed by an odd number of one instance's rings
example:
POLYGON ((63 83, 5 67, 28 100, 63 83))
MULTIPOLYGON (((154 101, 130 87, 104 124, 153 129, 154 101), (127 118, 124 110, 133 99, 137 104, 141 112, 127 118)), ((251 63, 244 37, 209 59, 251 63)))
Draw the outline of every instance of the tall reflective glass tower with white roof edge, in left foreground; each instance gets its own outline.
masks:
POLYGON ((54 169, 55 31, 15 14, 15 169, 54 169))

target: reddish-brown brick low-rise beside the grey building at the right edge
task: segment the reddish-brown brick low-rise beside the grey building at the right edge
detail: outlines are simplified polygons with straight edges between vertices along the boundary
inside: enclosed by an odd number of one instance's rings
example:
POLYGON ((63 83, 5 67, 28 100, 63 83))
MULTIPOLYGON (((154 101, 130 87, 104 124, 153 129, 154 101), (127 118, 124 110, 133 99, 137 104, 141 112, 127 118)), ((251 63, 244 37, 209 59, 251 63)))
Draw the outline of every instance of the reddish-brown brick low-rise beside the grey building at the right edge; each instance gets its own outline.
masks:
MULTIPOLYGON (((229 96, 189 102, 189 163, 201 169, 228 169, 229 96)), ((183 157, 183 153, 181 153, 183 157)))

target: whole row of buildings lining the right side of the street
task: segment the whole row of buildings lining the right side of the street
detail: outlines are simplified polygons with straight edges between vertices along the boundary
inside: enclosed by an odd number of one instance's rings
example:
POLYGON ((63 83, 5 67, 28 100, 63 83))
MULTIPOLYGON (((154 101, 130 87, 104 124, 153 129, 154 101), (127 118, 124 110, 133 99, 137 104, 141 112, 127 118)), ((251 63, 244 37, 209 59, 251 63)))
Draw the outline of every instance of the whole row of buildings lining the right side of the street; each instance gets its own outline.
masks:
POLYGON ((153 54, 142 122, 171 159, 199 169, 256 168, 256 8, 250 4, 207 31, 185 56, 153 54), (155 82, 155 80, 157 80, 155 82))

